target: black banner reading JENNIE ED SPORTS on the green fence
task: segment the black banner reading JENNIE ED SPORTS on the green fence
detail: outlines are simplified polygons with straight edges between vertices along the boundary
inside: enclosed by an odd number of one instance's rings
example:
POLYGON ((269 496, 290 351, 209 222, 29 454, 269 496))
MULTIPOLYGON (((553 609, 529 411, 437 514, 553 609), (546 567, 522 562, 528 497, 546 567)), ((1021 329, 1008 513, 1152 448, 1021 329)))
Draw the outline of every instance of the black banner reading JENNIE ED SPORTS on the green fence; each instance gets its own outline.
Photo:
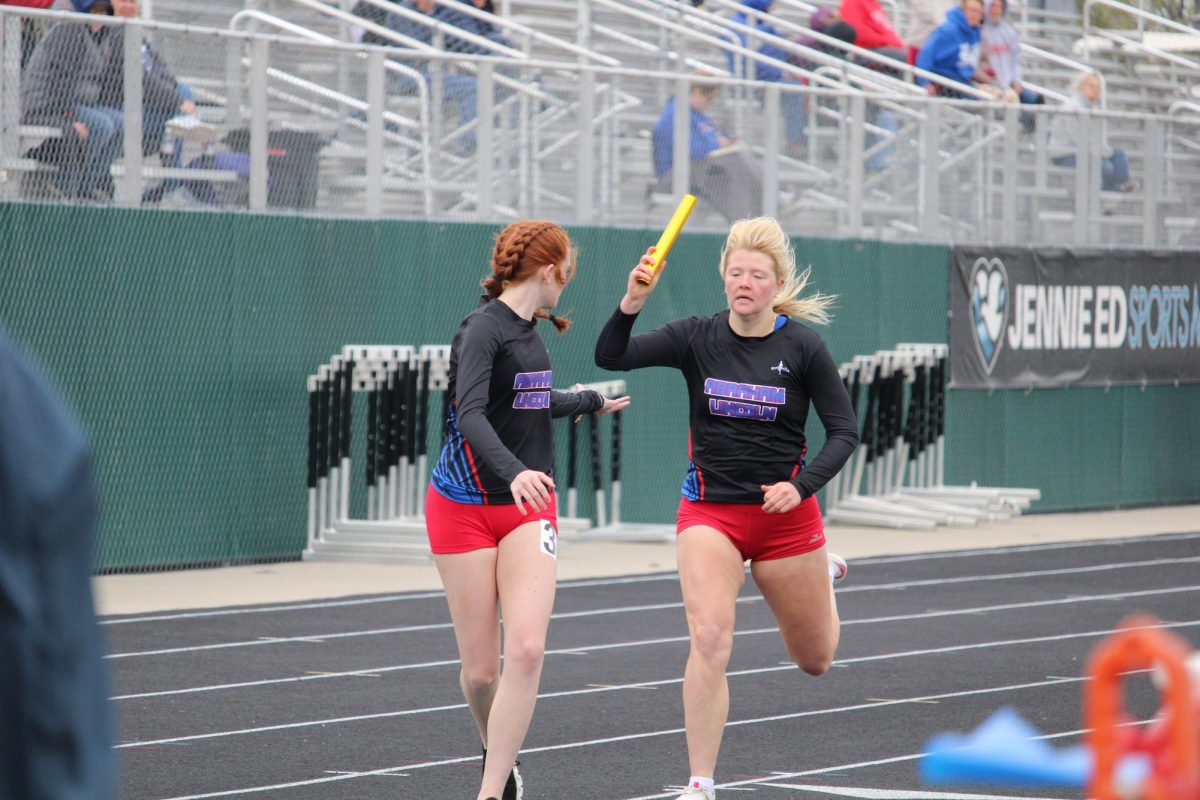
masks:
POLYGON ((950 385, 1200 381, 1200 254, 955 247, 950 385))

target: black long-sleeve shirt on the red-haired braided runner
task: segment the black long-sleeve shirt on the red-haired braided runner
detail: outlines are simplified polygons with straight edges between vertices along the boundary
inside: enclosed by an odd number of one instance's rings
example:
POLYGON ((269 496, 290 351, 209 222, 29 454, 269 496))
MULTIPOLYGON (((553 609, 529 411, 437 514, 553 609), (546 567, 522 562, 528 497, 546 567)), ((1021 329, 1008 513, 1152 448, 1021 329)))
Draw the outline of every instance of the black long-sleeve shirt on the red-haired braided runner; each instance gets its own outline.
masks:
POLYGON ((517 474, 551 474, 552 417, 593 414, 594 391, 551 390, 550 354, 533 321, 498 300, 467 315, 450 345, 446 444, 433 487, 457 503, 512 503, 517 474))

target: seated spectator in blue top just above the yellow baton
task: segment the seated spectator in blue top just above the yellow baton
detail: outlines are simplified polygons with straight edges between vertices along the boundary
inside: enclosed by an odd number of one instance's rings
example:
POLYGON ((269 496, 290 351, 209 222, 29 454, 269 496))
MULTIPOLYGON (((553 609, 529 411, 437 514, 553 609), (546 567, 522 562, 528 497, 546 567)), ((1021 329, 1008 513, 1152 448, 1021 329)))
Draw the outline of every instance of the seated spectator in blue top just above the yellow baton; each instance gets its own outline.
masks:
MULTIPOLYGON (((733 222, 762 213, 762 172, 740 149, 734 149, 734 138, 706 114, 720 91, 718 84, 703 80, 691 85, 689 191, 733 222)), ((654 173, 659 179, 654 188, 661 191, 670 191, 674 166, 674 97, 667 101, 652 130, 654 173)))

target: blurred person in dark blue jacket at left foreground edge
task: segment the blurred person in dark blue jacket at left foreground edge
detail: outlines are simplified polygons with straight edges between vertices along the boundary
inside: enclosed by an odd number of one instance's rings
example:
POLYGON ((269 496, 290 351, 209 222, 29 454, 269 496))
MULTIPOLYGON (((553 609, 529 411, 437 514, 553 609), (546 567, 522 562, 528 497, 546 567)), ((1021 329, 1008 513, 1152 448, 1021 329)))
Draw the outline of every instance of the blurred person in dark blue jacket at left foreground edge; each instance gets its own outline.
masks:
POLYGON ((0 330, 0 798, 113 800, 88 439, 0 330))

